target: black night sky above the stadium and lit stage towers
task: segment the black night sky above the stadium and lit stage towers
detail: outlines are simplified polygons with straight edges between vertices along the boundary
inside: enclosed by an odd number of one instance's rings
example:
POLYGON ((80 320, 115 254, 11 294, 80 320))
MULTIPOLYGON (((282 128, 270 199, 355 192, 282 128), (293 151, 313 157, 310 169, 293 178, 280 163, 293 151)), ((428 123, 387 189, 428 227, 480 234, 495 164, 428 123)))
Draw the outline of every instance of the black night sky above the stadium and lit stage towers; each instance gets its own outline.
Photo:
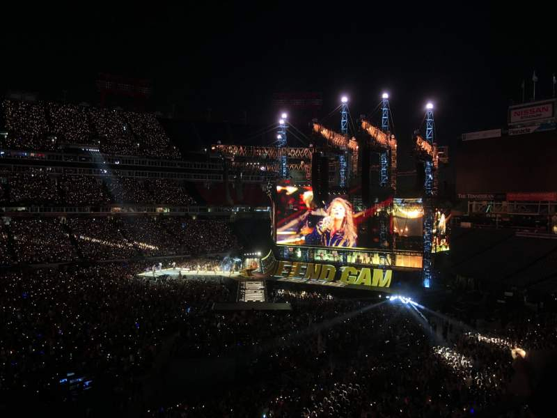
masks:
POLYGON ((538 97, 549 97, 557 72, 556 10, 539 2, 535 10, 487 1, 397 2, 384 10, 370 1, 266 9, 204 3, 10 10, 0 29, 0 88, 43 98, 67 91, 69 100, 94 102, 97 73, 110 72, 152 80, 154 109, 210 107, 230 118, 246 109, 262 125, 276 118, 275 92, 322 92, 323 114, 346 93, 356 117, 386 90, 398 137, 420 125, 432 100, 444 144, 500 127, 510 100, 521 99, 522 79, 531 95, 534 69, 538 97))

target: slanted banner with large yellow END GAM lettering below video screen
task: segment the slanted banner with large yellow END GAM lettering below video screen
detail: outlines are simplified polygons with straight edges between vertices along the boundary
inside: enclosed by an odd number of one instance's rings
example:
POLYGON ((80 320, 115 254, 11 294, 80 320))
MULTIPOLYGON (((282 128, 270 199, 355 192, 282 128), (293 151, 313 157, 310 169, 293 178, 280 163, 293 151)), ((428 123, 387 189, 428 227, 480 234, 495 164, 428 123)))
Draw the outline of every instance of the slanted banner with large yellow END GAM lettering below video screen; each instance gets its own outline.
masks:
POLYGON ((299 263, 297 261, 278 261, 273 277, 278 281, 290 281, 321 286, 346 287, 367 286, 368 288, 389 288, 393 270, 341 266, 330 264, 299 263))

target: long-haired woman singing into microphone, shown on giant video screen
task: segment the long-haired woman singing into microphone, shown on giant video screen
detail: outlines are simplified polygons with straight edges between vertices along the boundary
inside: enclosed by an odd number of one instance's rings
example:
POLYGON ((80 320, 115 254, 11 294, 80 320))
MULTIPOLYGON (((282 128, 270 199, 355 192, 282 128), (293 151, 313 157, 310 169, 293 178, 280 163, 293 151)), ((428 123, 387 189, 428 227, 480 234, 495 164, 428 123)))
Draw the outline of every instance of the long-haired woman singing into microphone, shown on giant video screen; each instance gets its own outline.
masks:
POLYGON ((327 247, 356 247, 356 226, 350 203, 340 197, 333 199, 327 208, 327 216, 309 235, 311 240, 319 238, 320 245, 327 247))

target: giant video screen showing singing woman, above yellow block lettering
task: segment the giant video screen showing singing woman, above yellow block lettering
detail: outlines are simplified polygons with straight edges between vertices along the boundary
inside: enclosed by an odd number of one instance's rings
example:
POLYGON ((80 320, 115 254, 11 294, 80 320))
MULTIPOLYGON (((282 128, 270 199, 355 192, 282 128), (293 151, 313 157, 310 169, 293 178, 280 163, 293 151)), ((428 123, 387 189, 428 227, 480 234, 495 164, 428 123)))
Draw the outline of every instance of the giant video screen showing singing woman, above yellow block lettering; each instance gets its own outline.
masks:
POLYGON ((331 196, 317 205, 311 186, 278 185, 276 192, 278 245, 375 249, 390 248, 396 240, 397 248, 404 249, 405 242, 421 242, 421 199, 387 199, 366 210, 356 210, 343 195, 331 196), (381 223, 386 242, 379 242, 381 223))

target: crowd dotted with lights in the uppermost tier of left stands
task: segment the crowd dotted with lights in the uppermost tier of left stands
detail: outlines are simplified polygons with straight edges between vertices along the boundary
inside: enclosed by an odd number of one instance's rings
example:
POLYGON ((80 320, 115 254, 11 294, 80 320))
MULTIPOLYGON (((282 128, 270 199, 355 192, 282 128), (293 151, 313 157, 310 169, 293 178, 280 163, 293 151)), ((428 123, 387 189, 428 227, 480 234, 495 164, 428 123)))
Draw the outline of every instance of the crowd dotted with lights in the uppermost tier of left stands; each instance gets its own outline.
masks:
POLYGON ((1 108, 8 130, 1 146, 6 148, 53 151, 77 144, 98 146, 111 155, 181 157, 152 114, 8 99, 1 108))

